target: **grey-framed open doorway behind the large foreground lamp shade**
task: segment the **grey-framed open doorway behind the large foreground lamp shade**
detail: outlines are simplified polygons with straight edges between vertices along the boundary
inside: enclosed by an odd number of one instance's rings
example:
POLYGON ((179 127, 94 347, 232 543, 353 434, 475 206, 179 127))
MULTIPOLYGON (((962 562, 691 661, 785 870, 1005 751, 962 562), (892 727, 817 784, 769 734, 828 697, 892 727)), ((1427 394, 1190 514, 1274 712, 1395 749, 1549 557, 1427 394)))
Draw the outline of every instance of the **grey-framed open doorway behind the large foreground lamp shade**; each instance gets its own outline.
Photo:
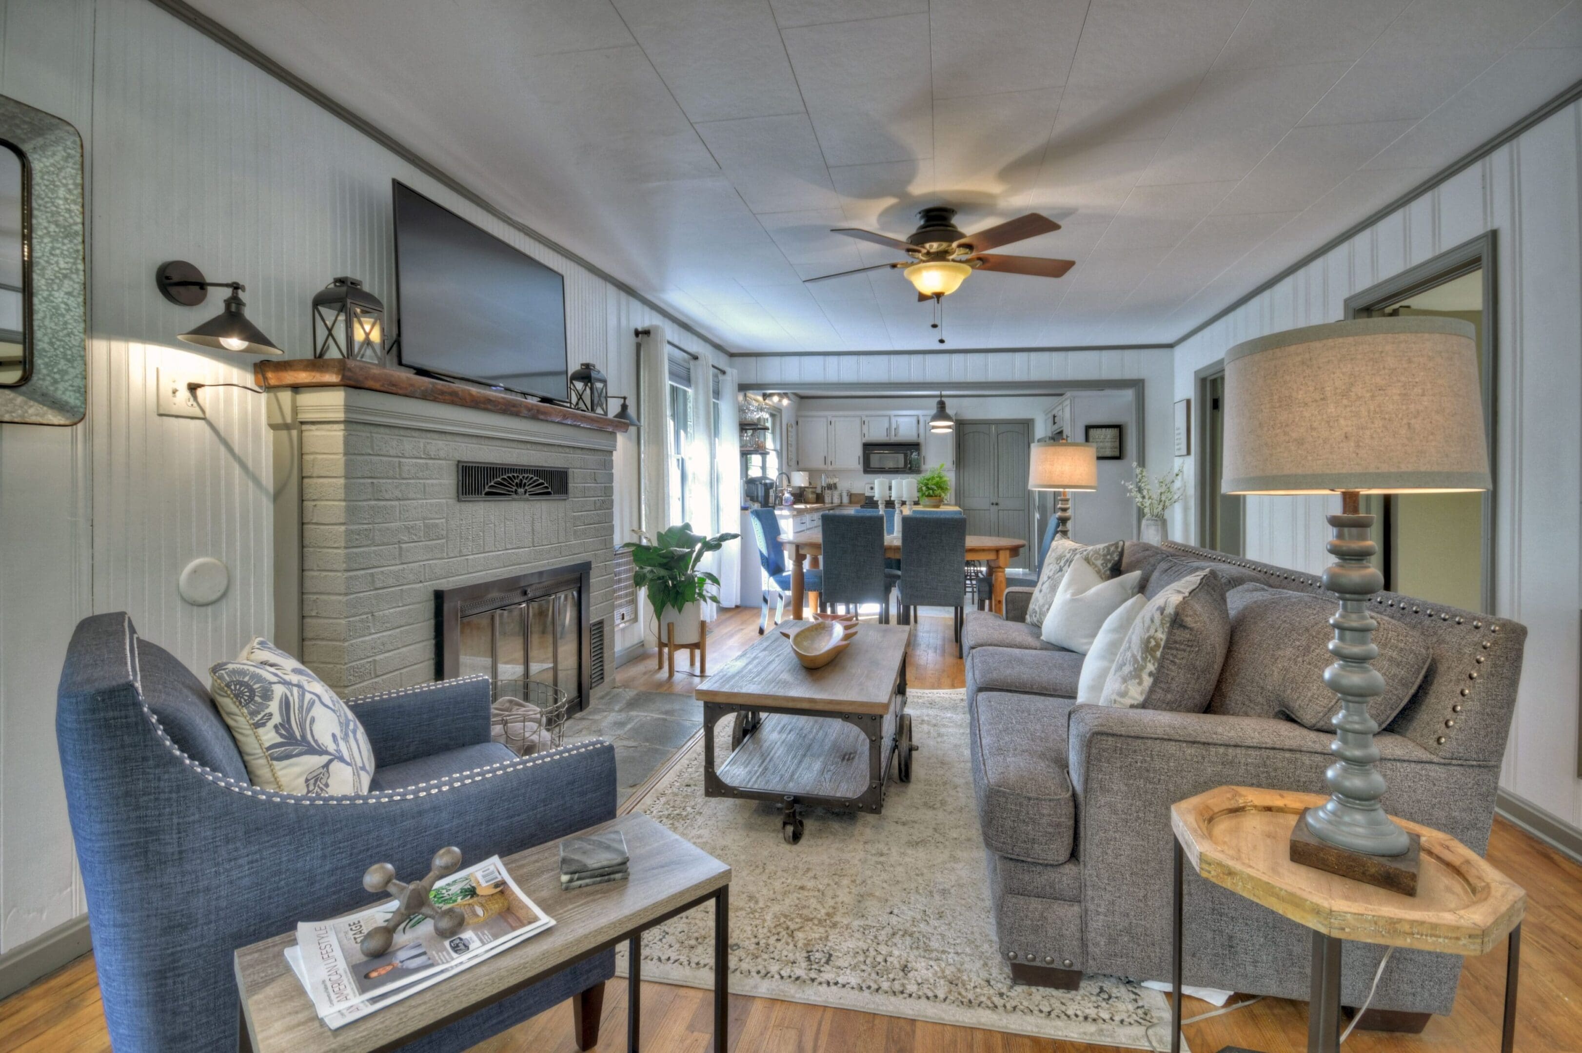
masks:
MULTIPOLYGON (((1489 465, 1493 457, 1493 236, 1452 248, 1346 300, 1348 318, 1459 318, 1476 332, 1489 465)), ((1495 481, 1498 485, 1498 479, 1495 481)), ((1367 495, 1384 588, 1465 610, 1493 604, 1493 492, 1367 495)))

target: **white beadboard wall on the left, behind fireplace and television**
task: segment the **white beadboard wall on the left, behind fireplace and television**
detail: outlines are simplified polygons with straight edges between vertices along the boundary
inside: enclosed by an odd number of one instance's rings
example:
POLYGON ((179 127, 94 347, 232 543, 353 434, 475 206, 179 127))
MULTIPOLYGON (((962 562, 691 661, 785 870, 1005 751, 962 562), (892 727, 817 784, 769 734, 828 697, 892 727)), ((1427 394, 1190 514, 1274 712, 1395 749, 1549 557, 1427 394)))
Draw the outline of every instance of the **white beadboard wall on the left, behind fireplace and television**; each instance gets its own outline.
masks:
MULTIPOLYGON (((252 359, 174 334, 218 311, 168 304, 165 259, 247 285, 248 316, 310 354, 308 300, 354 275, 394 300, 391 179, 565 275, 573 362, 636 394, 633 329, 726 357, 596 274, 437 180, 146 0, 0 2, 0 92, 74 123, 89 191, 89 411, 70 428, 0 425, 0 953, 85 911, 55 754, 55 681, 76 621, 128 610, 193 670, 274 623, 264 400, 207 389, 207 419, 155 416, 158 370, 252 383, 252 359), (196 557, 226 596, 176 591, 196 557)), ((658 435, 660 432, 655 432, 658 435)), ((615 452, 615 538, 636 525, 636 454, 615 452)), ((617 647, 636 642, 615 640, 617 647)))

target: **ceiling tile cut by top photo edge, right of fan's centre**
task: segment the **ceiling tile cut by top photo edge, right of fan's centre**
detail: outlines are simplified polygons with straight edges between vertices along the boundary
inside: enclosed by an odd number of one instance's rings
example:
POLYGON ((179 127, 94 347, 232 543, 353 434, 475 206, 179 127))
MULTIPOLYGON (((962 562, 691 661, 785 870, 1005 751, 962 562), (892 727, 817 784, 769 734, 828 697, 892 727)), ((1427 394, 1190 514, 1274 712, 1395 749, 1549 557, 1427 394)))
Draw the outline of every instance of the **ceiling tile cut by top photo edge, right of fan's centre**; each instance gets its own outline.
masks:
POLYGON ((1088 0, 935 0, 935 98, 1060 87, 1087 9, 1088 0))

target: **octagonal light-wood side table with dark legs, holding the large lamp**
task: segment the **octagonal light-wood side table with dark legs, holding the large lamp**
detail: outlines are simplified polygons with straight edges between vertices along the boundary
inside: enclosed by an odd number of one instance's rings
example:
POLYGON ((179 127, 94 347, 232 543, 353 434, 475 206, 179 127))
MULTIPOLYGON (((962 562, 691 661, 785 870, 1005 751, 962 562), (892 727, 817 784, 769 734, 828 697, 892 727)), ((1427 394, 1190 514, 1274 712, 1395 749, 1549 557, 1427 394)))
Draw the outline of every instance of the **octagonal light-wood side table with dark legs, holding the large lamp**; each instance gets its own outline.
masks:
MULTIPOLYGON (((1342 941, 1470 957, 1493 950, 1506 936, 1500 1048, 1511 1053, 1527 893, 1455 838, 1405 819, 1395 822, 1422 838, 1416 896, 1292 863, 1291 828, 1305 810, 1326 800, 1323 794, 1221 786, 1171 805, 1175 832, 1171 1053, 1180 1053, 1182 1037, 1183 860, 1201 878, 1313 930, 1308 1053, 1340 1048, 1342 941)), ((1253 1051, 1224 1047, 1220 1053, 1253 1051)))

